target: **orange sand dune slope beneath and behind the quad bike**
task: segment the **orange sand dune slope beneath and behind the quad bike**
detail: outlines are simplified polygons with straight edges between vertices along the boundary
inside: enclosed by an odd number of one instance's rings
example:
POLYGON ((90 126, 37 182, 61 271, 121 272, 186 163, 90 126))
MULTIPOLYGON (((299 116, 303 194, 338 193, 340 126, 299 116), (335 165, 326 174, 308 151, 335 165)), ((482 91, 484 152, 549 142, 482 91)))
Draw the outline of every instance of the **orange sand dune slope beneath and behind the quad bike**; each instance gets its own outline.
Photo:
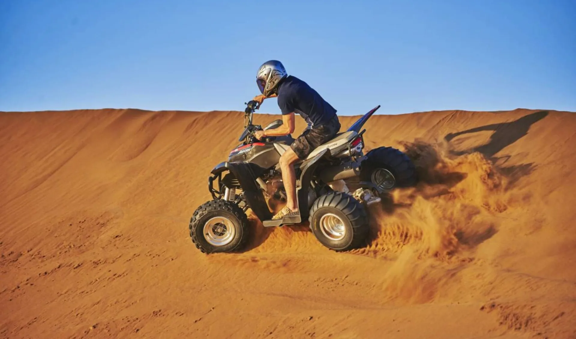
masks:
POLYGON ((374 116, 367 146, 423 182, 373 208, 366 248, 252 217, 248 251, 207 256, 188 220, 241 121, 0 113, 0 337, 576 337, 575 113, 374 116))

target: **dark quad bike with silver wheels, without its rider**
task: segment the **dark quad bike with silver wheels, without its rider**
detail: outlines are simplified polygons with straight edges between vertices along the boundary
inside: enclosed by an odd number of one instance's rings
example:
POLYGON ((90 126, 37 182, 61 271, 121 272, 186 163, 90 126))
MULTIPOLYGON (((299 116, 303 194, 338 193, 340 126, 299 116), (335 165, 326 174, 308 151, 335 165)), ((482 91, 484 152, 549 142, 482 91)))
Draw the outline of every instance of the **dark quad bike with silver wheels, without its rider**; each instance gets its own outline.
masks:
MULTIPOLYGON (((309 220, 314 236, 335 251, 363 246, 369 233, 367 205, 380 201, 380 195, 396 187, 416 183, 414 164, 403 152, 380 147, 363 154, 361 130, 377 106, 350 128, 314 149, 294 164, 300 216, 271 220, 272 202, 283 202, 280 156, 294 141, 291 135, 256 140, 262 126, 253 125, 256 101, 249 101, 244 115, 241 144, 230 152, 228 161, 216 165, 208 178, 212 200, 198 207, 190 220, 190 236, 204 253, 240 250, 250 238, 248 208, 264 227, 300 224, 309 220), (350 194, 343 180, 357 179, 358 189, 350 194), (269 205, 270 204, 270 205, 269 205)), ((264 130, 275 129, 275 120, 264 130)))

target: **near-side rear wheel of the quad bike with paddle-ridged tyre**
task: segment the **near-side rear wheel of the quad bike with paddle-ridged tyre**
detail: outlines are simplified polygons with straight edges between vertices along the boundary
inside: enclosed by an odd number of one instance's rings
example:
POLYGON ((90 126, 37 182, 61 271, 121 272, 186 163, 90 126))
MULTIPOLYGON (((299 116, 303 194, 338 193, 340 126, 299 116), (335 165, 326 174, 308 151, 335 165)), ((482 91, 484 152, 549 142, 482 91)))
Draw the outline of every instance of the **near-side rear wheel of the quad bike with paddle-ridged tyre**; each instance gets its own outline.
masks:
POLYGON ((331 192, 310 209, 310 229, 324 246, 337 252, 362 246, 369 231, 364 206, 351 195, 331 192))

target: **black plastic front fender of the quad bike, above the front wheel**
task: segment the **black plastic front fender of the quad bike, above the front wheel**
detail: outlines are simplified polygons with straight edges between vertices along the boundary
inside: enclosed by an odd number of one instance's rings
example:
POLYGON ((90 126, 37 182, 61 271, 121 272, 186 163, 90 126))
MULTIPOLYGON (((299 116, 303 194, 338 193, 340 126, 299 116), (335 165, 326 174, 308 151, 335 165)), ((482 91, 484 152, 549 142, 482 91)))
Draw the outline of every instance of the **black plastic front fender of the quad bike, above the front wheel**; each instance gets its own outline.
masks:
POLYGON ((260 220, 269 220, 272 218, 272 213, 268 209, 266 199, 262 190, 260 190, 256 183, 256 178, 262 175, 264 169, 258 165, 251 163, 229 163, 224 161, 216 165, 211 171, 212 176, 208 179, 210 194, 214 199, 222 198, 223 192, 215 190, 213 182, 218 179, 218 187, 221 187, 222 172, 230 171, 238 180, 242 191, 244 192, 244 199, 246 204, 260 220))

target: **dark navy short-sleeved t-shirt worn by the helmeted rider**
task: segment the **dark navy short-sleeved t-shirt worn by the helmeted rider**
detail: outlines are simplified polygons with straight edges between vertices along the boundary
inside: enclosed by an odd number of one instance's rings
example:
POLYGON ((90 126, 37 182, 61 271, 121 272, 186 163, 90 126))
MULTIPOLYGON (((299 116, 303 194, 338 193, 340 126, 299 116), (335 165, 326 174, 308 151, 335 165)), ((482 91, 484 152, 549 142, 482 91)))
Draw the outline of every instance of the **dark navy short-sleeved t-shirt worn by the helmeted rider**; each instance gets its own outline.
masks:
POLYGON ((282 115, 291 112, 300 114, 309 127, 320 126, 329 122, 336 115, 330 106, 306 82, 297 77, 286 77, 278 88, 278 106, 282 115))

